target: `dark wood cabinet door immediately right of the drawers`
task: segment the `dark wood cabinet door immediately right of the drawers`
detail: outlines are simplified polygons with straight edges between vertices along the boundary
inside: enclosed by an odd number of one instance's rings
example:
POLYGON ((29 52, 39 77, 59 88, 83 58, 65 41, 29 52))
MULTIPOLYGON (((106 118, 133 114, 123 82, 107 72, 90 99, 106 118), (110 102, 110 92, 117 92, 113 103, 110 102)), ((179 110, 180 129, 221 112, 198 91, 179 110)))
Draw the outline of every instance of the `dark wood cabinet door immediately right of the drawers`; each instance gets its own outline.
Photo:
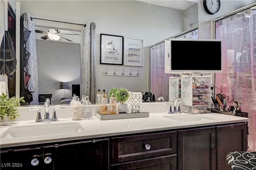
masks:
POLYGON ((178 131, 178 170, 215 170, 215 127, 178 131))

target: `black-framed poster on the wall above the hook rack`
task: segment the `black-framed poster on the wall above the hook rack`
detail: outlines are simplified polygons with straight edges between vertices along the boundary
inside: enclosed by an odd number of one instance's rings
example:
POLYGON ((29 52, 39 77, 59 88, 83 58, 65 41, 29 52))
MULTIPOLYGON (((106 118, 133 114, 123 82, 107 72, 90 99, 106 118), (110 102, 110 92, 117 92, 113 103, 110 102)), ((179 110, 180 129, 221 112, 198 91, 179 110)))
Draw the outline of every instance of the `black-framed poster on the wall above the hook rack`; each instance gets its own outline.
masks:
POLYGON ((123 65, 123 36, 100 34, 100 44, 100 64, 123 65))

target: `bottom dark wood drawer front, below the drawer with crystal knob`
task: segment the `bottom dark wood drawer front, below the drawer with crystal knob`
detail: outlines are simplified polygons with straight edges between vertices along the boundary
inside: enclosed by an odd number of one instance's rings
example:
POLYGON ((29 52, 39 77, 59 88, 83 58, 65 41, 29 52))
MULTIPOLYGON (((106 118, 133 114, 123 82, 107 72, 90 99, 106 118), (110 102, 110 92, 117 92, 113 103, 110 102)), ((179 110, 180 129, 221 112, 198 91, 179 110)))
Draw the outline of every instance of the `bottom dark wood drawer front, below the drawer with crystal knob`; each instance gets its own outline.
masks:
POLYGON ((111 165, 111 170, 176 170, 176 154, 111 165))

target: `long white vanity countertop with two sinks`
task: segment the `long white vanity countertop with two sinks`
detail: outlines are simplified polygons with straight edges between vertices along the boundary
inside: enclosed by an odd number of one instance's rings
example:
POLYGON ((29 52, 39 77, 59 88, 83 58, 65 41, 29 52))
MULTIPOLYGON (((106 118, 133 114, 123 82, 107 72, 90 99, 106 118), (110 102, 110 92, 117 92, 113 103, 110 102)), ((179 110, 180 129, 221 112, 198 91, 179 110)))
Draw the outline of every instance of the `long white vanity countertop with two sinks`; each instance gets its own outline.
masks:
MULTIPOLYGON (((148 106, 148 108, 150 107, 148 106)), ((31 112, 29 113, 31 115, 31 112)), ((249 118, 218 113, 167 114, 166 112, 156 112, 150 113, 149 117, 144 118, 101 121, 96 118, 95 114, 91 120, 71 120, 71 118, 61 118, 61 114, 59 113, 58 120, 58 122, 35 122, 34 120, 23 120, 10 122, 6 126, 0 126, 0 147, 23 146, 28 144, 42 144, 48 142, 101 138, 123 134, 136 134, 141 132, 154 132, 159 130, 177 130, 182 128, 248 122, 249 118), (27 131, 22 131, 22 133, 26 133, 26 135, 20 135, 20 133, 14 130, 22 128, 27 131), (36 131, 38 129, 39 131, 36 131)))

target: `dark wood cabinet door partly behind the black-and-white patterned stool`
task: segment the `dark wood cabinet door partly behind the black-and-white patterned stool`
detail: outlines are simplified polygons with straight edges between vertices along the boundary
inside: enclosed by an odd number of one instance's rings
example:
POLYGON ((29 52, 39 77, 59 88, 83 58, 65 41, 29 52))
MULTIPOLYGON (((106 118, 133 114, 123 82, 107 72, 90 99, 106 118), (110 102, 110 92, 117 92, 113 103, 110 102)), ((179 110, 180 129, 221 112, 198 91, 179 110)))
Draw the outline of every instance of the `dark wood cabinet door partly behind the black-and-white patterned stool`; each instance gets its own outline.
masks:
POLYGON ((226 156, 229 152, 247 150, 247 124, 217 126, 217 169, 230 170, 226 156))

